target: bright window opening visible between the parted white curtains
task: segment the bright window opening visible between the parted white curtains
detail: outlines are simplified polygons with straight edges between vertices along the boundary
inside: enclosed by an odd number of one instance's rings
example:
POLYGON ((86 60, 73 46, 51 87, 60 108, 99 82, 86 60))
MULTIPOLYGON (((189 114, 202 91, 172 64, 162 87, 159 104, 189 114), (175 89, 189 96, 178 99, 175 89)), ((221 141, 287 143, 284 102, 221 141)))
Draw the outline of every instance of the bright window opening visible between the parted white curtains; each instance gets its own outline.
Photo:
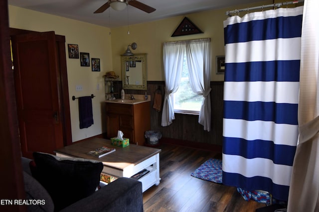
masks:
POLYGON ((178 90, 172 94, 172 103, 175 113, 199 114, 203 101, 202 95, 192 91, 187 68, 186 54, 183 58, 183 69, 178 90))

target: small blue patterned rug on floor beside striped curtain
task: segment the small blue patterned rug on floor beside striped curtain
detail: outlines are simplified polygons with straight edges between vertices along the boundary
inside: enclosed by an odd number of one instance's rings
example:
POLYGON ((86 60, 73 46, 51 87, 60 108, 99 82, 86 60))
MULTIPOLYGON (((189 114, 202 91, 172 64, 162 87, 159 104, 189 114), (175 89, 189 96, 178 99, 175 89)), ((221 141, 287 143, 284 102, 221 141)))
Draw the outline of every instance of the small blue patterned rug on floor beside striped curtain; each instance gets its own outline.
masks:
POLYGON ((222 160, 210 158, 201 164, 190 175, 202 180, 207 180, 214 183, 222 183, 222 160))

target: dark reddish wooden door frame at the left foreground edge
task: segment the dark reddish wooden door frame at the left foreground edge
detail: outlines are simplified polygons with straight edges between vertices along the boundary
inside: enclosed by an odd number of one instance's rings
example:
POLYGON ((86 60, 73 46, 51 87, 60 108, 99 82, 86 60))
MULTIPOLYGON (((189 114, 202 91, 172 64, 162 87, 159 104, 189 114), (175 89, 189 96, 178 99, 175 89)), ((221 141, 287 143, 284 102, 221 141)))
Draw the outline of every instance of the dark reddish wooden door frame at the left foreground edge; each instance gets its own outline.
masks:
MULTIPOLYGON (((18 137, 12 64, 10 60, 9 18, 6 0, 0 1, 0 199, 24 199, 21 151, 18 137)), ((1 206, 3 211, 26 212, 26 207, 1 206)))

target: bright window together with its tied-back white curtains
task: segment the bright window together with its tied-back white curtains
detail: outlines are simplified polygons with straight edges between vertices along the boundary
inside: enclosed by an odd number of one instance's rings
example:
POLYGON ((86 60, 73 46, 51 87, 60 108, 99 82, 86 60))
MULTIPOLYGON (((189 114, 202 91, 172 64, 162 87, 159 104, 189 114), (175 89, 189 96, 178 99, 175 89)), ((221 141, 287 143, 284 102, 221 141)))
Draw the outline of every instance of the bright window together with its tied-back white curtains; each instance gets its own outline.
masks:
POLYGON ((161 126, 172 124, 174 113, 196 113, 198 123, 210 131, 209 44, 209 38, 164 43, 165 98, 161 126))

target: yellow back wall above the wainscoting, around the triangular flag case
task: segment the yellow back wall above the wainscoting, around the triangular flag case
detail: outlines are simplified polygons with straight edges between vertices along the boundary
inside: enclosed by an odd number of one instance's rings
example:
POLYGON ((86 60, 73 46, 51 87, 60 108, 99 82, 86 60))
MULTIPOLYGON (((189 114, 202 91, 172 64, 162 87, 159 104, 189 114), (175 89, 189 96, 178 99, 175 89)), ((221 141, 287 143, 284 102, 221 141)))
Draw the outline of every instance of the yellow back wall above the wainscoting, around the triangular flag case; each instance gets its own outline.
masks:
MULTIPOLYGON (((224 55, 224 26, 223 21, 228 16, 227 10, 241 9, 252 6, 272 4, 272 0, 265 0, 259 3, 240 5, 236 7, 208 10, 187 15, 175 16, 149 23, 135 24, 124 27, 112 28, 112 54, 113 69, 121 75, 121 54, 127 46, 133 42, 138 48, 133 53, 147 53, 148 56, 148 80, 164 80, 162 66, 162 45, 164 42, 210 38, 211 55, 211 81, 223 81, 223 74, 216 74, 216 56, 224 55), (201 31, 202 34, 170 37, 184 17, 188 17, 201 31), (130 34, 128 34, 128 28, 130 34)), ((244 12, 241 15, 245 14, 244 12)))

